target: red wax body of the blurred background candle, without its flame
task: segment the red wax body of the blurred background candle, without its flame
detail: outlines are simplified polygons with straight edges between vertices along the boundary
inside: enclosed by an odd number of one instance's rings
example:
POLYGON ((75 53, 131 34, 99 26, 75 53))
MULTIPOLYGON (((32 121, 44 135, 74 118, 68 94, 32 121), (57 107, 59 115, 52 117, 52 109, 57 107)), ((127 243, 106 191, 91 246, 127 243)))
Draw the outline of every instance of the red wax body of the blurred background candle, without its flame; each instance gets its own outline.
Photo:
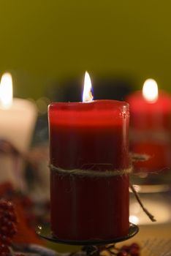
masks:
POLYGON ((147 154, 145 162, 134 163, 137 171, 165 171, 171 167, 171 97, 159 91, 156 102, 148 102, 137 91, 127 99, 130 105, 131 151, 147 154))

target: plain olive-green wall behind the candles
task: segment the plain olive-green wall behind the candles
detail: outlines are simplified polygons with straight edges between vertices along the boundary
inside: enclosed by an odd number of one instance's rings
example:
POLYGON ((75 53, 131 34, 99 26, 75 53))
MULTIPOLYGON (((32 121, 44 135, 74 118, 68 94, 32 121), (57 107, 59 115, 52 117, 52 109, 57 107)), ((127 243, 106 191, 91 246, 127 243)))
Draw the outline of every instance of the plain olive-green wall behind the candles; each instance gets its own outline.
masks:
POLYGON ((169 0, 0 0, 0 75, 34 99, 86 69, 171 91, 170 13, 169 0))

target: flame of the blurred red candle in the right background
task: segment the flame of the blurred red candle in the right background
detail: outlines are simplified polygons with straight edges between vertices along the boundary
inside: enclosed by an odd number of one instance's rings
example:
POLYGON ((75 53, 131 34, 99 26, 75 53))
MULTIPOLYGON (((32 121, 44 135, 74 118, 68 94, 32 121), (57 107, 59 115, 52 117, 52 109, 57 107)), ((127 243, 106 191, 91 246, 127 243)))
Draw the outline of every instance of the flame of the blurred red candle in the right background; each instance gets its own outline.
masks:
POLYGON ((158 86, 155 80, 148 79, 142 87, 142 95, 150 103, 156 102, 158 99, 158 86))

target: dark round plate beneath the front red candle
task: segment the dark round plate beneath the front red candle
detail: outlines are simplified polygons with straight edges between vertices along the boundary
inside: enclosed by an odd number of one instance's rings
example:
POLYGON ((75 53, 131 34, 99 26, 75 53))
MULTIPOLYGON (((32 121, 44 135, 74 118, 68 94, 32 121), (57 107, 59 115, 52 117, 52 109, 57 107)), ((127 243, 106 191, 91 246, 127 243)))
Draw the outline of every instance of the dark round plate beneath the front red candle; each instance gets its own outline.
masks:
POLYGON ((81 246, 93 246, 93 245, 104 245, 104 244, 115 244, 121 241, 126 241, 129 238, 132 238, 135 236, 139 231, 139 227, 137 225, 134 225, 132 223, 129 223, 129 233, 127 236, 122 236, 118 238, 113 238, 110 240, 83 240, 83 241, 74 241, 74 240, 61 240, 53 236, 51 229, 50 229, 50 223, 38 225, 36 227, 36 233, 40 237, 52 241, 56 244, 69 244, 69 245, 81 245, 81 246))

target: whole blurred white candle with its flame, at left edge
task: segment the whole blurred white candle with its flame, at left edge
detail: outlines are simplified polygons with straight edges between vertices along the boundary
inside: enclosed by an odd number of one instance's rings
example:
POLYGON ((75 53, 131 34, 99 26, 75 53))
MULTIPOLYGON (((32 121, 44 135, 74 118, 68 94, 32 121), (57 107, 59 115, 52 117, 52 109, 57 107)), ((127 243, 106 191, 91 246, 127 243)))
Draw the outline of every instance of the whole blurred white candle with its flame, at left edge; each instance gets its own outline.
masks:
MULTIPOLYGON (((32 102, 27 99, 12 99, 12 77, 5 73, 0 84, 0 140, 6 140, 21 153, 26 153, 31 143, 36 118, 37 109, 32 102)), ((24 187, 22 159, 18 161, 16 157, 14 159, 10 155, 1 154, 0 171, 1 174, 3 172, 3 179, 0 176, 0 182, 9 181, 18 189, 24 187)))

